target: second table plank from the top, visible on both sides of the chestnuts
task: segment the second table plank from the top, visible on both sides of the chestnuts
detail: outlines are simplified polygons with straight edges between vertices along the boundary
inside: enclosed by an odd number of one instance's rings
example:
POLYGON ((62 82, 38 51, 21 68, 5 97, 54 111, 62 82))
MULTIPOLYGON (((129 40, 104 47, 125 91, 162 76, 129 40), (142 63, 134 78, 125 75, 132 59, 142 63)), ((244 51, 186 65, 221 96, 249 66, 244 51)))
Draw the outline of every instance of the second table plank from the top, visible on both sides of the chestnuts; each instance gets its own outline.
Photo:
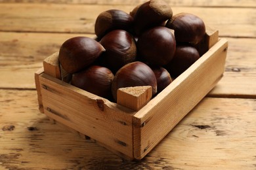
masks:
MULTIPOLYGON (((0 31, 94 33, 98 14, 114 8, 130 12, 134 6, 1 3, 0 31)), ((235 7, 173 7, 173 12, 174 14, 179 12, 196 14, 209 27, 219 30, 221 36, 256 37, 255 20, 253 20, 256 10, 253 8, 245 10, 235 7), (248 16, 250 16, 249 19, 248 16)))

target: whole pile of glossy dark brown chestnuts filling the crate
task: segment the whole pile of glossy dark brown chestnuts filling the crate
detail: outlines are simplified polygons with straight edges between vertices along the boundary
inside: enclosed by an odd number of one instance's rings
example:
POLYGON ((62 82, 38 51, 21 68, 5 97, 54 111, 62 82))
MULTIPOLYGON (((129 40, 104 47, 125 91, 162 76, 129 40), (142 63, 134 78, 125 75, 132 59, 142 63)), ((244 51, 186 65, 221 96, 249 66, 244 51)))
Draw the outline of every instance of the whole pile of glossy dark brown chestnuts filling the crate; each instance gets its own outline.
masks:
POLYGON ((188 69, 200 58, 195 46, 205 36, 205 24, 194 14, 173 15, 165 1, 151 0, 129 14, 100 13, 95 35, 65 41, 60 65, 72 74, 72 85, 116 101, 118 88, 152 86, 154 96, 188 69))

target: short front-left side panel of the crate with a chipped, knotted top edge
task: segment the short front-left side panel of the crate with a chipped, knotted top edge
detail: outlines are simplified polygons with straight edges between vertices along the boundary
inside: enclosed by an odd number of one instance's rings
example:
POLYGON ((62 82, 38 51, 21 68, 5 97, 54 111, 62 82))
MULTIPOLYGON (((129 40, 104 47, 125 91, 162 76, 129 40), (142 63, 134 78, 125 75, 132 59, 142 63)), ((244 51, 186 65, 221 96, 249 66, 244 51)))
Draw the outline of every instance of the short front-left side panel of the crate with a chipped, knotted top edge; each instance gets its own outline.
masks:
POLYGON ((39 79, 47 116, 133 157, 133 114, 108 107, 109 101, 101 97, 75 92, 70 84, 49 75, 39 79))

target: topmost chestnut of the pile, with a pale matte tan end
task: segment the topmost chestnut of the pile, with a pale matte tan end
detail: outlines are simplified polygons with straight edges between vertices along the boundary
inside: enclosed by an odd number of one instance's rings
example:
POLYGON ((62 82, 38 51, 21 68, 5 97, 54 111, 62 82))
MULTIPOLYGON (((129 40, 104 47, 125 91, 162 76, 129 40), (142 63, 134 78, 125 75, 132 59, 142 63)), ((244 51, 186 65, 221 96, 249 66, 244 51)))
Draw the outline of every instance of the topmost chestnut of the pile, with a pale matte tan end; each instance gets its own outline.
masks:
POLYGON ((146 29, 155 27, 169 20, 173 10, 163 0, 151 0, 135 8, 134 31, 140 35, 146 29))

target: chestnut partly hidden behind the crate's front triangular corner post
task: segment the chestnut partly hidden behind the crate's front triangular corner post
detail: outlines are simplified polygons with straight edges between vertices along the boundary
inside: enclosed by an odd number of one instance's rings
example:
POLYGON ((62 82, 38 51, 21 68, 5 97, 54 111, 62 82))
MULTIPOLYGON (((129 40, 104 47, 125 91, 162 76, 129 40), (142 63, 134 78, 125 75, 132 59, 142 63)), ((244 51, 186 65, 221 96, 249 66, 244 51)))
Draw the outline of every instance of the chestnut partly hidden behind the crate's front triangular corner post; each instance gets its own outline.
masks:
POLYGON ((112 95, 117 100, 117 90, 134 86, 152 86, 152 95, 157 92, 156 76, 152 69, 140 61, 124 65, 117 71, 112 82, 112 95))

